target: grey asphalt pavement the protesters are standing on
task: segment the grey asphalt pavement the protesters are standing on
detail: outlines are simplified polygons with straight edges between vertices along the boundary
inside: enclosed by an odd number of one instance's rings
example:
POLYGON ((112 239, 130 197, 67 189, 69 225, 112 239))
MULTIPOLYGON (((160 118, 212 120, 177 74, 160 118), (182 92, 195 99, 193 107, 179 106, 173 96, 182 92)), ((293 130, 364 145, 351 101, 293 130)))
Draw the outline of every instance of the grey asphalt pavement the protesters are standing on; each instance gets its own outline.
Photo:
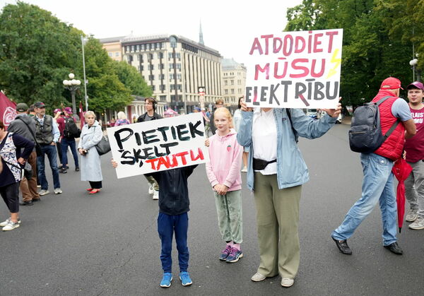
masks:
MULTIPOLYGON (((292 288, 282 288, 280 277, 250 280, 259 256, 254 202, 245 186, 245 256, 236 264, 218 260, 224 244, 204 165, 189 179, 193 285, 180 285, 174 249, 172 286, 160 288, 157 201, 148 196, 143 177, 118 180, 105 155, 100 194, 86 193, 88 184, 70 163, 60 176, 64 193, 21 207, 21 226, 0 233, 0 295, 423 295, 424 231, 405 223, 399 235, 404 255, 391 254, 382 247, 377 207, 349 239, 352 256, 341 254, 330 238, 360 197, 359 155, 349 150, 347 131, 347 125, 336 125, 322 138, 300 139, 311 180, 302 189, 301 261, 292 288)), ((52 184, 49 169, 47 176, 52 184)), ((4 203, 0 217, 8 217, 4 203)))

